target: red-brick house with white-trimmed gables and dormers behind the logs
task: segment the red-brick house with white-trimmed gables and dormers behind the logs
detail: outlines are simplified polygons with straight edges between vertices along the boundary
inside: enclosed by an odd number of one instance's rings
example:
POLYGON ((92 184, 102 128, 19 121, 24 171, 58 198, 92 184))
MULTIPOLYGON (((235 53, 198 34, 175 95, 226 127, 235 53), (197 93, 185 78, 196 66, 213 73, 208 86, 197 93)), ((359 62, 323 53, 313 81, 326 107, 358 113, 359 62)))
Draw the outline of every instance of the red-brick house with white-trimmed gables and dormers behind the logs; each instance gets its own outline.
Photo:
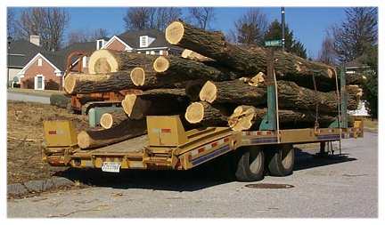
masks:
MULTIPOLYGON (((60 90, 64 84, 67 58, 71 52, 94 52, 97 49, 110 49, 145 54, 180 54, 183 49, 168 44, 164 33, 150 29, 142 31, 128 31, 119 36, 101 38, 96 42, 71 44, 57 52, 38 52, 20 70, 21 88, 37 90, 60 90)), ((82 73, 88 73, 88 57, 83 58, 82 65, 78 65, 79 57, 74 57, 70 68, 80 66, 82 73)))

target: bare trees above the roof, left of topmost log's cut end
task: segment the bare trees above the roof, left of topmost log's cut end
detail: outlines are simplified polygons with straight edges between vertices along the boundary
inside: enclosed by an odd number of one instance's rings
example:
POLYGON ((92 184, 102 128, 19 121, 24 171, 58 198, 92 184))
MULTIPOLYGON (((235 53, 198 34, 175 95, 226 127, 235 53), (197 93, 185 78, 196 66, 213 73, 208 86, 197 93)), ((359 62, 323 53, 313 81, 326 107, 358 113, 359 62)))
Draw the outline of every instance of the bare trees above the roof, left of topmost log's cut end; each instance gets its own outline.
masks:
POLYGON ((163 31, 181 15, 182 10, 175 7, 133 7, 127 9, 123 20, 127 30, 158 28, 163 31))

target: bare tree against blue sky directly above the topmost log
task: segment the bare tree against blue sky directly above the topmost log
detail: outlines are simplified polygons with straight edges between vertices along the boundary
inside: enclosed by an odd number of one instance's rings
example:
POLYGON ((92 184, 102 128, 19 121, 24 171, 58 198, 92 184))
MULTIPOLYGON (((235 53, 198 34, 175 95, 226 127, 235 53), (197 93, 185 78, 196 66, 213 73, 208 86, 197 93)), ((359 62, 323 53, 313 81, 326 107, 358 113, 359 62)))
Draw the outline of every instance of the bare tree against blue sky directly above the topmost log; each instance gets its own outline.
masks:
POLYGON ((216 20, 214 8, 212 7, 193 7, 189 8, 189 15, 193 24, 198 28, 209 28, 210 22, 216 20))

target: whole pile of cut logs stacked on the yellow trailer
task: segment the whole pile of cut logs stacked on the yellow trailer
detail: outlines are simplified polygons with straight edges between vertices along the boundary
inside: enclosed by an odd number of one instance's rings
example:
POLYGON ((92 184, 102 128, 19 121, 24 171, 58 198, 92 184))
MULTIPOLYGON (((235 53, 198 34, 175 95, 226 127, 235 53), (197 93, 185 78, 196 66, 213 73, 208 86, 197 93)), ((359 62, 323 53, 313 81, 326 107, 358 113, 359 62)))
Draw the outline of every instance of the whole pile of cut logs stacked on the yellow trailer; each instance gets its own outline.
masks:
MULTIPOLYGON (((94 75, 67 76, 69 93, 140 90, 122 100, 124 113, 103 117, 109 129, 79 133, 80 148, 141 135, 146 116, 181 115, 192 125, 258 129, 267 112, 266 49, 229 44, 220 32, 182 21, 168 26, 166 39, 186 49, 182 57, 98 50, 88 65, 94 75)), ((276 51, 274 73, 281 127, 313 127, 315 121, 327 126, 337 119, 338 68, 276 51)), ((347 76, 348 109, 357 108, 364 82, 365 76, 347 76)))

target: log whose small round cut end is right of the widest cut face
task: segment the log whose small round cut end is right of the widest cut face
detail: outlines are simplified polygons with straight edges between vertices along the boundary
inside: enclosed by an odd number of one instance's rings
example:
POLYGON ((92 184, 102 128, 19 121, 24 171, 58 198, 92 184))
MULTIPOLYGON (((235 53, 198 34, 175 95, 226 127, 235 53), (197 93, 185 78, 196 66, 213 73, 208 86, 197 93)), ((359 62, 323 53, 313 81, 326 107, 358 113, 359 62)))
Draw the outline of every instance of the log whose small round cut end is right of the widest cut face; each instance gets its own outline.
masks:
MULTIPOLYGON (((215 65, 211 63, 211 65, 215 65)), ((181 57, 175 56, 160 56, 154 60, 153 68, 158 72, 157 76, 168 76, 168 77, 180 77, 184 80, 194 79, 207 79, 207 80, 233 80, 237 77, 243 76, 242 73, 237 73, 229 68, 220 67, 209 67, 200 61, 186 60, 181 57)))

